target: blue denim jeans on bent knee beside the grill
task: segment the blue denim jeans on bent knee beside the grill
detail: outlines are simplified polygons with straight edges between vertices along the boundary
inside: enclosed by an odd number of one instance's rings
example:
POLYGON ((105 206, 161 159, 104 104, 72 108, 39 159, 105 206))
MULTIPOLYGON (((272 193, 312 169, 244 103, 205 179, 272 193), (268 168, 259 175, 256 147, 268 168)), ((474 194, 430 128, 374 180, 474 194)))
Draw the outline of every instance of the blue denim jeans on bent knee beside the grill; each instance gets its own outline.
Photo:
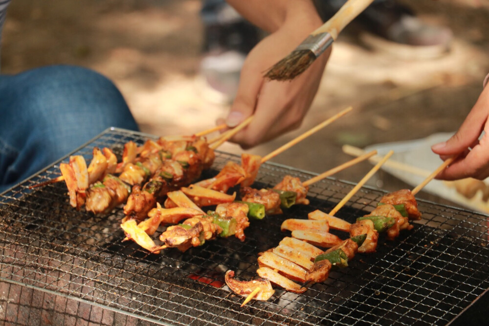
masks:
POLYGON ((122 94, 97 72, 51 66, 0 75, 0 193, 109 127, 138 130, 122 94))

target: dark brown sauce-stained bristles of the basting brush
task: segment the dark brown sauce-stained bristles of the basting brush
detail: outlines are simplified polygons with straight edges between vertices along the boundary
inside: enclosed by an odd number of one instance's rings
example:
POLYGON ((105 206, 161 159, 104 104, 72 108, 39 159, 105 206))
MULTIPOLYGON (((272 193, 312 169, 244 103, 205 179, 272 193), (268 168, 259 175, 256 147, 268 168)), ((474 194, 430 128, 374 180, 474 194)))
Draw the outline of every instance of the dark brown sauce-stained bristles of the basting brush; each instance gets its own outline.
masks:
POLYGON ((291 80, 303 73, 316 59, 311 50, 292 51, 270 68, 265 77, 270 80, 291 80))

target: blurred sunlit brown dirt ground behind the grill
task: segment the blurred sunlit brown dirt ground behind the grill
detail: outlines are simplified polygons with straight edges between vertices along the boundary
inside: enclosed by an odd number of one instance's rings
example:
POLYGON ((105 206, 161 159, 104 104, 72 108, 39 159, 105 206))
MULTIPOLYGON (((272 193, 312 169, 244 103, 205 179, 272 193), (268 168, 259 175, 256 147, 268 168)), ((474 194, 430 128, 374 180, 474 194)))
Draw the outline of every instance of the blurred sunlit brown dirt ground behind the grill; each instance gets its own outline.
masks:
MULTIPOLYGON (((354 111, 348 116, 273 162, 319 173, 351 159, 341 150, 345 143, 365 147, 454 132, 489 72, 489 1, 408 2, 422 19, 452 28, 446 55, 417 59, 373 49, 362 42, 363 32, 349 27, 333 47, 301 128, 250 152, 264 155, 350 105, 354 111)), ((117 84, 143 132, 191 134, 213 126, 228 110, 203 96, 199 86, 200 5, 200 0, 14 0, 2 35, 1 69, 92 68, 117 84)), ((233 144, 221 149, 242 152, 233 144)), ((361 163, 335 177, 357 182, 371 166, 361 163)), ((387 190, 402 185, 387 173, 371 183, 387 190)))

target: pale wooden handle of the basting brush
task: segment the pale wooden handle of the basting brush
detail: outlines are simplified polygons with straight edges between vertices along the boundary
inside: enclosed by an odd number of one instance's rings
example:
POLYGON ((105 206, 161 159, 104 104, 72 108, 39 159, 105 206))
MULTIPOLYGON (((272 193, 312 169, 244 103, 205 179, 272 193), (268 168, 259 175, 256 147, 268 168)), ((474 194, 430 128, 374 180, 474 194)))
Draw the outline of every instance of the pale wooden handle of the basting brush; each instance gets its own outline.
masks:
POLYGON ((338 10, 334 16, 324 23, 321 27, 312 32, 311 35, 320 33, 330 33, 333 40, 336 40, 338 34, 353 21, 365 8, 367 8, 374 0, 348 0, 338 10))

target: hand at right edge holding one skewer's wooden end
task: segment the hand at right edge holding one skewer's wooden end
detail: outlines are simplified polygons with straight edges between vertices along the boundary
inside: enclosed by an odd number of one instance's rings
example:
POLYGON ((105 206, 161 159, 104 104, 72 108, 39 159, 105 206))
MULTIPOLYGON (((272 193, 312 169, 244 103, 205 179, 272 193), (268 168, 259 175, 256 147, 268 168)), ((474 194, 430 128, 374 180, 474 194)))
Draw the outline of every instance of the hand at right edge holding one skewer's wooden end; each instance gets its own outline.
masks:
POLYGON ((442 160, 458 156, 454 163, 438 174, 437 179, 457 180, 472 177, 483 180, 489 176, 488 117, 489 87, 486 87, 457 133, 449 140, 431 147, 442 160), (484 134, 479 140, 483 131, 484 134))

